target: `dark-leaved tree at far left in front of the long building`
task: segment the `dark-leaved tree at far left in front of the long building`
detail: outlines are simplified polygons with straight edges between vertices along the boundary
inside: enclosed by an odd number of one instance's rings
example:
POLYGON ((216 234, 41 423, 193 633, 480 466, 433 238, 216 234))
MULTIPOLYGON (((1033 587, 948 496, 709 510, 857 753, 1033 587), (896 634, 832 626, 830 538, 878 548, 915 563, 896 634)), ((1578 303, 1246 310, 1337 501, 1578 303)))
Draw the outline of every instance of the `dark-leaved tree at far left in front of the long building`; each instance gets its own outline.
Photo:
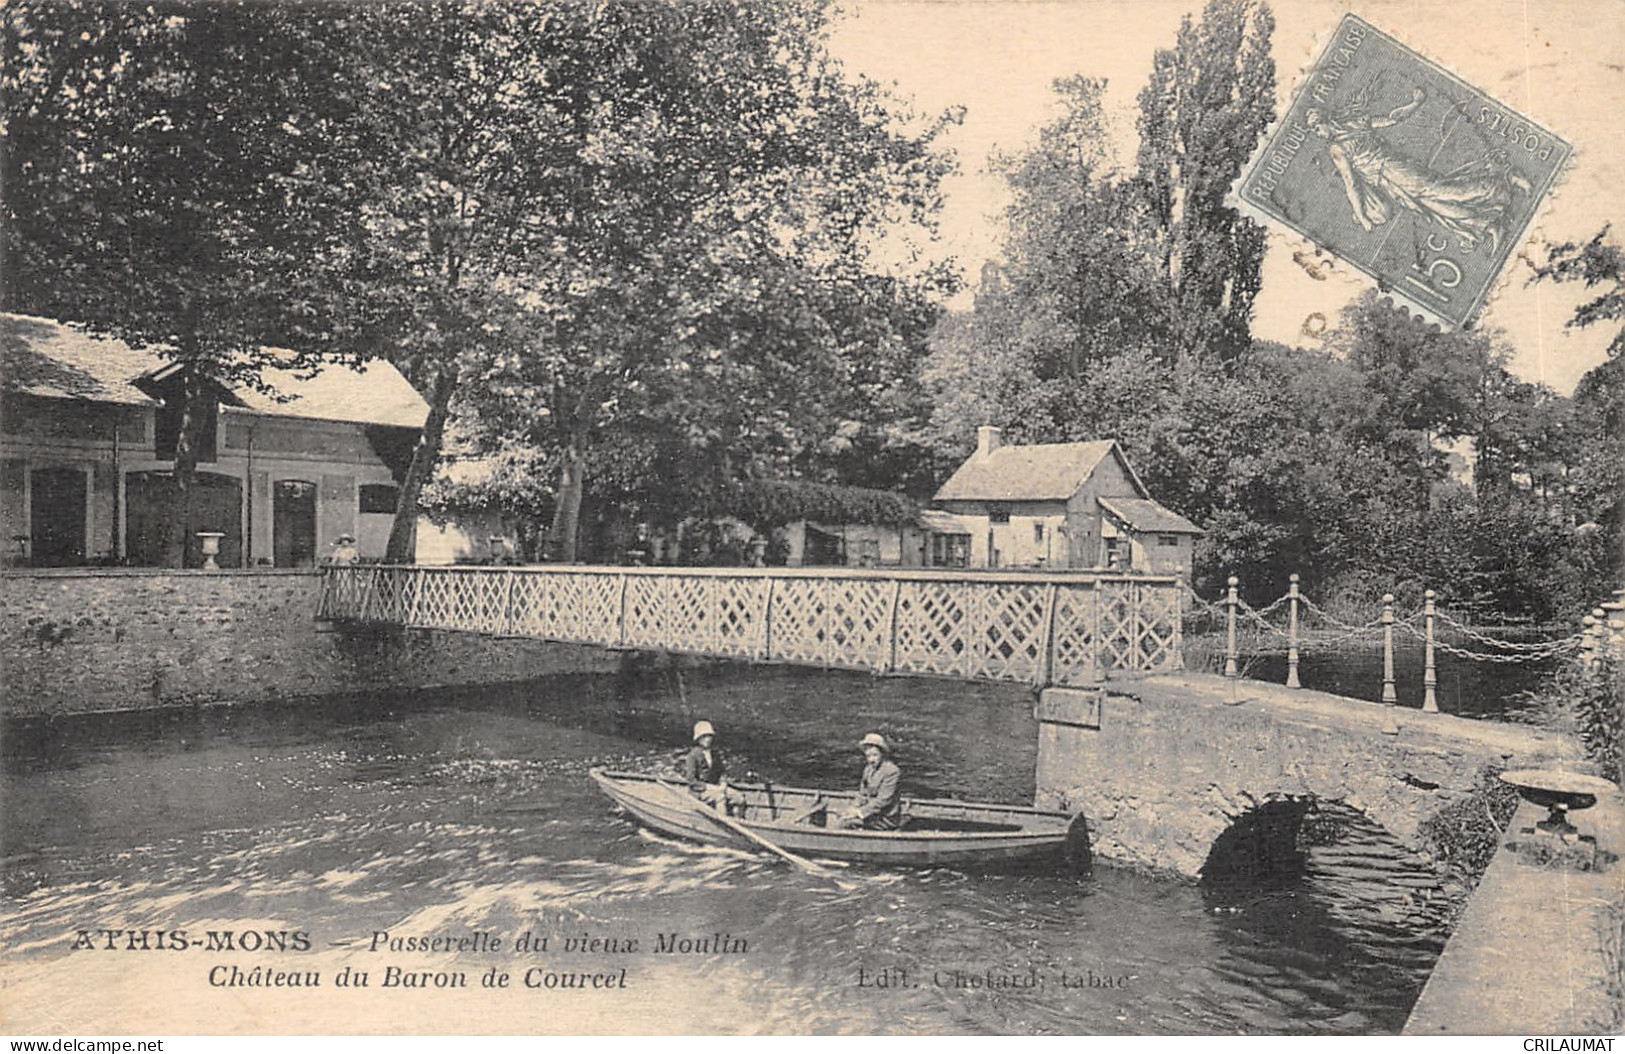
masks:
POLYGON ((309 174, 344 112, 346 15, 24 0, 3 19, 3 300, 176 364, 180 565, 205 414, 257 383, 266 344, 306 348, 325 326, 312 261, 348 213, 309 174))

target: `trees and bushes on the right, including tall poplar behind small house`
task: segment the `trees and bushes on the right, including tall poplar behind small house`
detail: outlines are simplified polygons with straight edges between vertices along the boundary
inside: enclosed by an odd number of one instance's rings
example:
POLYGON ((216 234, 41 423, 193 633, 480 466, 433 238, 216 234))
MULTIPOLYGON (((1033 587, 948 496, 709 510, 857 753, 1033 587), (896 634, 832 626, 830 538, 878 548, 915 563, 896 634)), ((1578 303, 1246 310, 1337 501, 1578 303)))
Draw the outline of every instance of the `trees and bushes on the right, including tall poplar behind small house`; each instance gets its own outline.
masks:
MULTIPOLYGON (((1297 572, 1323 603, 1433 588, 1456 609, 1571 619, 1622 552, 1625 374, 1565 400, 1511 374, 1502 335, 1438 333, 1376 294, 1323 349, 1248 339, 1263 235, 1224 193, 1272 114, 1271 28, 1242 2, 1186 19, 1141 93, 1128 172, 1105 86, 1056 83, 1060 117, 999 159, 1003 257, 973 313, 933 335, 931 451, 957 461, 980 424, 1116 438, 1204 528, 1207 594, 1238 573, 1274 599, 1297 572)), ((1594 240, 1554 250, 1549 273, 1617 281, 1617 265, 1594 240)))

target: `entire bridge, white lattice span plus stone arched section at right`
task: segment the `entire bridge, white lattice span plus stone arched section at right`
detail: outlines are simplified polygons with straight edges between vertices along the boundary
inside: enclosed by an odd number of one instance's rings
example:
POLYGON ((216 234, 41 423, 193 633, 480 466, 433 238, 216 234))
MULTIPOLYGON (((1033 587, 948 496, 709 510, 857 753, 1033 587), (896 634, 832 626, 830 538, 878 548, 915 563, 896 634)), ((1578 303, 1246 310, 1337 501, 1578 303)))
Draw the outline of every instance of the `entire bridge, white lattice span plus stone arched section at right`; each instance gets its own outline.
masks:
POLYGON ((1188 672, 1185 598, 1141 575, 359 565, 325 572, 320 617, 1029 685, 1038 804, 1190 877, 1250 815, 1311 802, 1436 864, 1488 773, 1580 757, 1529 726, 1188 672))

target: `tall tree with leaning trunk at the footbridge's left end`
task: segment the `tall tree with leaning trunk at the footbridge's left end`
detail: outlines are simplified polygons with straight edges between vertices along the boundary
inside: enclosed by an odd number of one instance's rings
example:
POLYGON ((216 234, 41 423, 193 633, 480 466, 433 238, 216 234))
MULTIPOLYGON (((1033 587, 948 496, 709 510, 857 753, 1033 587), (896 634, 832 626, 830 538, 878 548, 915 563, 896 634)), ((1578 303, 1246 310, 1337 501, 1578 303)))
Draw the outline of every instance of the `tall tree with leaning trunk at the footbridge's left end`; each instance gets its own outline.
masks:
POLYGON ((353 8, 353 106, 333 130, 353 164, 332 177, 359 231, 325 274, 348 304, 340 336, 388 356, 429 403, 387 560, 411 560, 453 400, 504 356, 533 354, 517 322, 526 283, 593 190, 569 130, 580 112, 608 106, 578 80, 613 60, 613 44, 582 29, 596 8, 353 8))

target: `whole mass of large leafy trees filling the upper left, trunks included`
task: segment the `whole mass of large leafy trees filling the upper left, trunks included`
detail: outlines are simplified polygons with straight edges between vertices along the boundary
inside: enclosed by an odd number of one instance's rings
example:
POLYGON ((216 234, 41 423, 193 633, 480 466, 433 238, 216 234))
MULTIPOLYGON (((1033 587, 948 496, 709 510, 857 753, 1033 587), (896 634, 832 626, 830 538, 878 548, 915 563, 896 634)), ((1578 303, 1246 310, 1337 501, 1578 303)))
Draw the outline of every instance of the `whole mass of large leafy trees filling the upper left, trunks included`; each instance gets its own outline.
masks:
POLYGON ((5 18, 6 305, 171 343, 197 398, 262 343, 387 354, 431 408, 393 560, 453 401, 551 461, 564 555, 588 473, 912 464, 954 115, 843 71, 826 0, 5 18))

